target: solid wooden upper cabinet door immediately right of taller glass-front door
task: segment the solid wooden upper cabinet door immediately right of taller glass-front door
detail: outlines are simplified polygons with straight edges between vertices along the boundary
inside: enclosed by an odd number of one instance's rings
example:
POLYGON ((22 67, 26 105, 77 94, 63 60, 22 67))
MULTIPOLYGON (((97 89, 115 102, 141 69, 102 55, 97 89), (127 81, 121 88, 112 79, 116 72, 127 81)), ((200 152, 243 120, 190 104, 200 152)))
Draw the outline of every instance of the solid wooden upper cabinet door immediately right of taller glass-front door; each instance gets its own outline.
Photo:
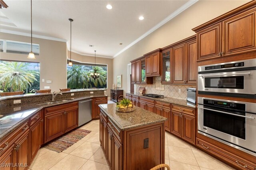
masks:
POLYGON ((173 47, 172 83, 185 83, 185 43, 173 47))

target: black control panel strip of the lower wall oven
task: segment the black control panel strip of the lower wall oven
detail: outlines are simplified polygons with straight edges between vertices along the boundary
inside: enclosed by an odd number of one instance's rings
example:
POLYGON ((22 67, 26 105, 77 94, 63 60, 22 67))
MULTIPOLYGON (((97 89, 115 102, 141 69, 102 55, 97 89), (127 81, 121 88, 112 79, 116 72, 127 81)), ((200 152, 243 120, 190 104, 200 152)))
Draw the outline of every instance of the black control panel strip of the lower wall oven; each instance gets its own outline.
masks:
POLYGON ((239 109, 245 111, 245 104, 239 104, 239 103, 232 103, 232 102, 223 102, 218 100, 208 100, 204 99, 204 105, 210 105, 210 106, 218 106, 218 107, 225 107, 229 109, 239 109))

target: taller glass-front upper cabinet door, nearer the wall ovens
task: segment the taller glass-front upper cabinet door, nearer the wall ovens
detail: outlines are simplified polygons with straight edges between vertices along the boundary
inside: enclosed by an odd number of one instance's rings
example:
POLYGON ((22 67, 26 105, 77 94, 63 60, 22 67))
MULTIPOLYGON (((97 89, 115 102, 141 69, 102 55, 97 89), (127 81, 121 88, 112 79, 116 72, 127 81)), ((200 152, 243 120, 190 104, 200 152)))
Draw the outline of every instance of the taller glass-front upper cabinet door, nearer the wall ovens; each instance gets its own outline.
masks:
POLYGON ((172 80, 172 49, 162 52, 162 83, 171 83, 172 80))

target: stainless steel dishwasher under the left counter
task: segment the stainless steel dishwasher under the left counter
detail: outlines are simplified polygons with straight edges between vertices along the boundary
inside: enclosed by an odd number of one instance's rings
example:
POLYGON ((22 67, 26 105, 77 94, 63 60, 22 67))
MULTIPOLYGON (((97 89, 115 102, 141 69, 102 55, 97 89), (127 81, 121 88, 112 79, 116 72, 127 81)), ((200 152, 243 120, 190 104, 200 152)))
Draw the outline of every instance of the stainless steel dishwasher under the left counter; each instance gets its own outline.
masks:
POLYGON ((80 100, 78 105, 78 126, 92 120, 92 99, 80 100))

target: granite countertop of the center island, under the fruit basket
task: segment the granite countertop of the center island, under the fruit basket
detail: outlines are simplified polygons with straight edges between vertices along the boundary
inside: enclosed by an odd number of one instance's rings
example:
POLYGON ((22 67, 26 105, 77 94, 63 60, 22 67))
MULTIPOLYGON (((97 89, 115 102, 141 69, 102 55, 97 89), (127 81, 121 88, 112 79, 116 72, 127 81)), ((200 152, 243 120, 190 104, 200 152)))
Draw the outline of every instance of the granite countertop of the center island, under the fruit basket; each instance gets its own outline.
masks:
POLYGON ((156 113, 152 113, 136 106, 134 111, 128 113, 116 111, 116 104, 101 104, 99 106, 121 130, 132 129, 167 120, 166 117, 162 117, 156 113))

